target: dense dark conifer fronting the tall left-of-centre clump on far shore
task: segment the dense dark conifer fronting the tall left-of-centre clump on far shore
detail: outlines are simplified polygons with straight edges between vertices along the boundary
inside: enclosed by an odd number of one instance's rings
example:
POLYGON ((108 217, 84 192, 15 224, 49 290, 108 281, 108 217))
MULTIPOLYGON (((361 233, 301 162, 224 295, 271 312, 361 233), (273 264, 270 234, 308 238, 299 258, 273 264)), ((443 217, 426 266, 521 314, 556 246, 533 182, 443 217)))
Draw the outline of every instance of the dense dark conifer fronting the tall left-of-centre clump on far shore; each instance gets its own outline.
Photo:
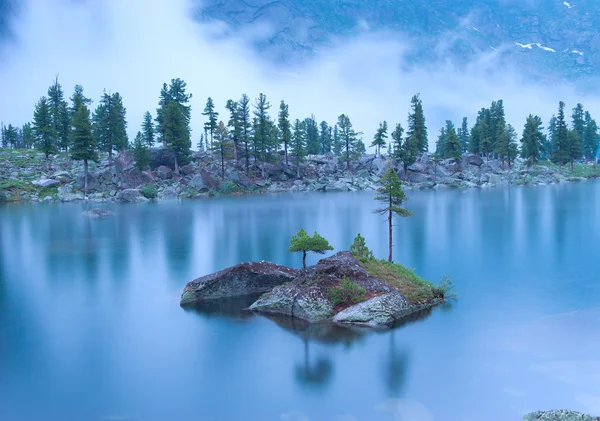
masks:
POLYGON ((175 173, 179 174, 179 164, 185 163, 190 154, 192 142, 183 108, 175 101, 169 102, 162 114, 163 139, 175 155, 175 173))

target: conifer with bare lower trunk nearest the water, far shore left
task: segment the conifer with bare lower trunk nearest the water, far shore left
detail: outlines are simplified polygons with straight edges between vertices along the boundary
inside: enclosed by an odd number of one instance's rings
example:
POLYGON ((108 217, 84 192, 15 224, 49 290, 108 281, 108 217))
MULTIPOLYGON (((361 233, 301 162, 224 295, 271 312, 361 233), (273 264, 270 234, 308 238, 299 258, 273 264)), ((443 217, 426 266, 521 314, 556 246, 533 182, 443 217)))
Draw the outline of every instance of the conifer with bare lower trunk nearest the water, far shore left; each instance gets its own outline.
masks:
POLYGON ((85 102, 79 104, 75 114, 71 118, 71 139, 73 146, 71 156, 76 161, 83 161, 84 191, 88 192, 88 162, 98 161, 96 153, 96 142, 92 136, 92 122, 90 121, 90 110, 85 102))

